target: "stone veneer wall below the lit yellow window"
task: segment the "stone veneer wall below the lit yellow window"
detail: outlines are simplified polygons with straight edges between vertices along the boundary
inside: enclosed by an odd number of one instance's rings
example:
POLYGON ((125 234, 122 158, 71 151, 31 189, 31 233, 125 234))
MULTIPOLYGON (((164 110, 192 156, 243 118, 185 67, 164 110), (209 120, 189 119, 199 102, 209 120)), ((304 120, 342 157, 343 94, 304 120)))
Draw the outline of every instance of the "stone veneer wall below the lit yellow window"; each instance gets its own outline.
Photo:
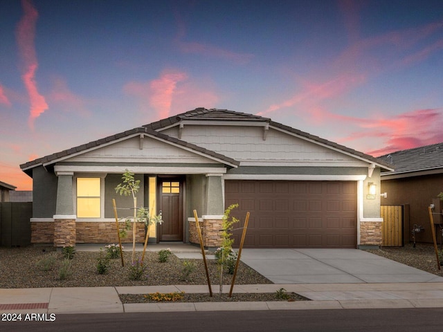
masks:
MULTIPOLYGON (((121 223, 120 228, 123 227, 121 223)), ((76 223, 77 243, 118 243, 116 222, 85 222, 76 223)), ((132 225, 127 230, 127 236, 122 238, 122 243, 132 243, 132 225)), ((137 223, 136 242, 145 242, 145 224, 137 223)))

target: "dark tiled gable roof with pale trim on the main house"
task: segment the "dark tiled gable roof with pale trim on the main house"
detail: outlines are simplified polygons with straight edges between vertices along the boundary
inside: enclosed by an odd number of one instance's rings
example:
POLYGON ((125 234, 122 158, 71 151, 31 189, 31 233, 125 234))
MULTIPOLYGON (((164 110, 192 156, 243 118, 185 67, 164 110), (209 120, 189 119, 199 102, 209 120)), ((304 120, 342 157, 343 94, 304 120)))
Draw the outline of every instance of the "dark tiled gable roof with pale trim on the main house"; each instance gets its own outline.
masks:
POLYGON ((161 133, 162 130, 168 129, 174 126, 180 126, 180 128, 186 126, 186 124, 202 124, 202 123, 213 123, 218 124, 221 122, 230 122, 231 124, 237 125, 260 125, 264 127, 264 135, 266 135, 266 130, 269 127, 274 127, 276 129, 280 129, 282 131, 287 131, 293 135, 296 135, 305 140, 309 140, 311 142, 315 142, 319 145, 323 145, 338 151, 341 151, 345 154, 354 156, 355 158, 359 158, 368 163, 373 163, 379 167, 392 170, 392 165, 390 163, 385 163, 383 160, 379 158, 374 158, 368 154, 363 154, 362 152, 356 151, 354 149, 347 148, 343 145, 338 145, 335 142, 330 142, 329 140, 325 140, 318 136, 313 136, 309 133, 305 133, 298 129, 293 129, 291 127, 285 126, 284 124, 280 124, 278 122, 273 122, 269 118, 263 118, 261 116, 255 116, 253 114, 248 113, 239 113, 235 111, 229 111, 226 109, 204 109, 198 108, 192 111, 188 111, 186 113, 181 113, 176 116, 171 116, 170 118, 165 118, 163 120, 159 120, 156 122, 152 122, 150 124, 145 124, 143 127, 134 128, 129 131, 124 131, 122 133, 117 133, 116 135, 108 136, 107 138, 102 138, 100 140, 95 140, 93 142, 89 142, 84 145, 80 145, 78 147, 73 147, 71 149, 66 149, 64 151, 57 152, 55 154, 51 154, 48 156, 44 156, 42 158, 37 158, 28 163, 24 163, 20 165, 21 169, 26 172, 26 174, 32 176, 31 169, 37 167, 39 165, 51 165, 52 163, 56 163, 57 161, 67 158, 69 156, 73 156, 74 154, 80 154, 85 151, 89 151, 90 149, 96 149, 101 145, 109 144, 110 142, 114 142, 116 140, 120 140, 125 137, 134 136, 136 134, 146 134, 147 136, 154 136, 160 140, 165 142, 170 142, 172 144, 181 145, 188 149, 199 152, 200 154, 204 154, 208 157, 216 158, 221 160, 222 162, 230 165, 231 167, 237 167, 240 163, 233 158, 229 158, 228 156, 224 156, 215 151, 210 151, 209 149, 205 149, 203 147, 199 147, 192 143, 180 140, 178 138, 173 138, 171 136, 165 135, 161 133))

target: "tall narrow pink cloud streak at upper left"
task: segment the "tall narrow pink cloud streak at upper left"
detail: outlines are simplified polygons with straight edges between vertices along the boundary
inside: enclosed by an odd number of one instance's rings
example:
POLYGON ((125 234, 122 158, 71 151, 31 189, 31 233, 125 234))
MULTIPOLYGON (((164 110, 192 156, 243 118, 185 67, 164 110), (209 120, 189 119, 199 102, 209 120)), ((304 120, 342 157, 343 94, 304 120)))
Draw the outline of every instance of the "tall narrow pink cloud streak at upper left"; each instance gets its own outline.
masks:
POLYGON ((22 60, 22 79, 30 98, 30 116, 28 124, 32 129, 35 118, 39 117, 46 109, 48 104, 37 89, 35 82, 35 72, 38 68, 37 56, 35 55, 35 24, 37 22, 38 12, 30 1, 21 1, 24 9, 24 15, 21 17, 17 25, 17 44, 19 46, 19 54, 22 60))

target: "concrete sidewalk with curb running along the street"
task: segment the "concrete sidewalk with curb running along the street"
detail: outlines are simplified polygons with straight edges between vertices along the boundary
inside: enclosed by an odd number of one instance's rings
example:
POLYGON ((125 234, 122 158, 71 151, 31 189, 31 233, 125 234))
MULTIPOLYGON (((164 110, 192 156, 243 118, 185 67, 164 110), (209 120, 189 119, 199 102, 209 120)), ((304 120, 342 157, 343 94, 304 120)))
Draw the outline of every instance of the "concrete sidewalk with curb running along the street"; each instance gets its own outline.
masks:
MULTIPOLYGON (((224 286, 228 293, 230 286, 224 286)), ((122 304, 119 294, 208 293, 207 285, 0 289, 0 313, 136 313, 170 311, 442 308, 443 283, 266 284, 235 286, 234 293, 275 293, 280 288, 311 301, 122 304)), ((218 286, 213 292, 218 293, 218 286)))

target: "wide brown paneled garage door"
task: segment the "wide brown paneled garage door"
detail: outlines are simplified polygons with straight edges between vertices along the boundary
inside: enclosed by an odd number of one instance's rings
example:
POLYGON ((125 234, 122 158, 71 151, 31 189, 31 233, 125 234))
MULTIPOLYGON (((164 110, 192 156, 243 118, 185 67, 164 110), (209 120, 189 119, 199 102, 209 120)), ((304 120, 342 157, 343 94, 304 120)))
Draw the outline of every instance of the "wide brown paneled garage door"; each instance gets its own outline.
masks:
POLYGON ((239 227, 251 212, 244 248, 356 248, 356 196, 352 181, 225 181, 239 227))

